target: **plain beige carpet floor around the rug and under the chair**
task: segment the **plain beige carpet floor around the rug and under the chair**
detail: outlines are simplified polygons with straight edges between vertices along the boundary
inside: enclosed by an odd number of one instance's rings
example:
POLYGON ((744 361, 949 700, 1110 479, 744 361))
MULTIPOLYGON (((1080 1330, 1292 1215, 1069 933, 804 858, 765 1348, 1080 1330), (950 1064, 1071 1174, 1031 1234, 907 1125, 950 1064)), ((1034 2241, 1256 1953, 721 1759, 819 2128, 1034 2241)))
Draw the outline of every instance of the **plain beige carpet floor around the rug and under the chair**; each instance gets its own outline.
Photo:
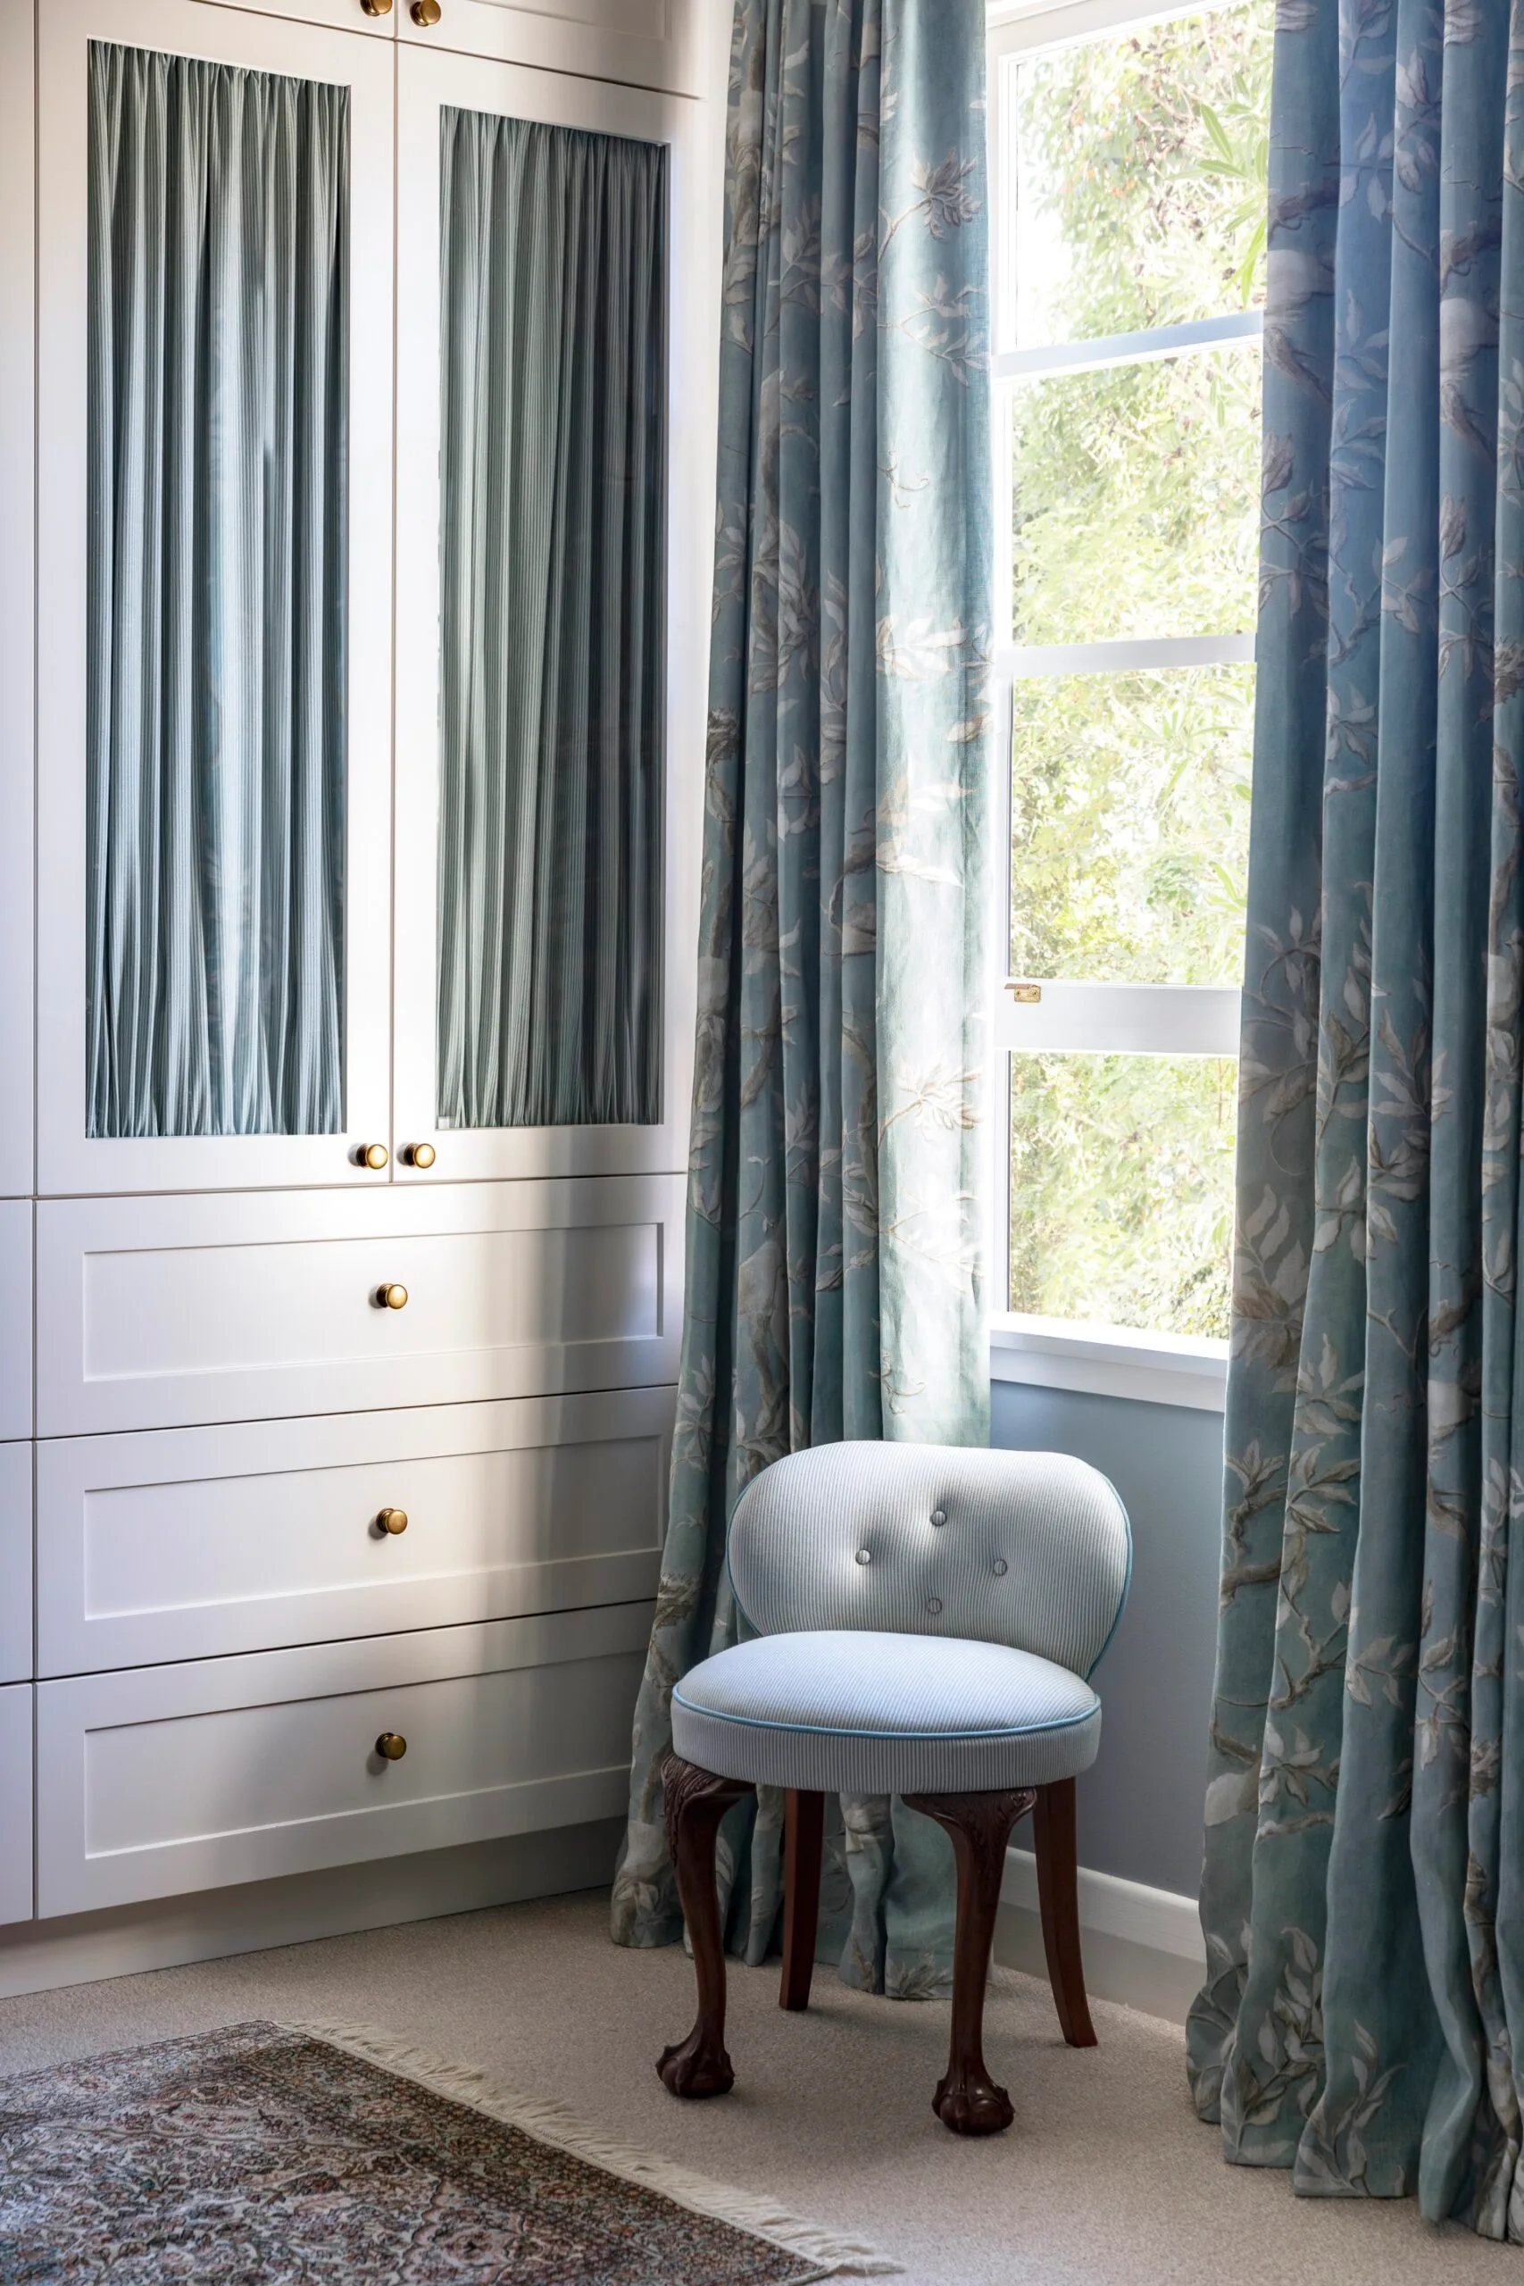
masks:
POLYGON ((1293 2199, 1280 2174, 1225 2167, 1186 2108, 1177 2030, 1097 2007, 1101 2046, 1069 2051, 1046 1987, 1010 1971, 987 2051, 1017 2124, 989 2142, 932 2119, 946 2007, 864 2000, 820 1973, 809 2016, 784 2016, 775 1971, 733 1971, 736 2092, 685 2105, 653 2064, 690 2012, 681 1952, 619 1952, 603 1897, 560 1897, 0 2000, 0 2071, 251 2016, 363 2019, 852 2229, 909 2286, 1517 2277, 1517 2247, 1430 2231, 1412 2204, 1293 2199))

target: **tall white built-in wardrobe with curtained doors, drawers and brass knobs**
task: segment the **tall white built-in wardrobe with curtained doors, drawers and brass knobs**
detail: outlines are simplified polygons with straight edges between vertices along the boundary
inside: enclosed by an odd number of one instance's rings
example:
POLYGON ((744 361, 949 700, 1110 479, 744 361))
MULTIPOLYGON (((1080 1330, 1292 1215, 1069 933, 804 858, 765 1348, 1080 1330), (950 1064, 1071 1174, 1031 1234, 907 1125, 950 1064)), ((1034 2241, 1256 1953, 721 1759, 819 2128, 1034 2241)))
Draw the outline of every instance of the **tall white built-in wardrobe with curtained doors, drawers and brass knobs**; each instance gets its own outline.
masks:
POLYGON ((624 1811, 722 14, 0 0, 0 1952, 624 1811))

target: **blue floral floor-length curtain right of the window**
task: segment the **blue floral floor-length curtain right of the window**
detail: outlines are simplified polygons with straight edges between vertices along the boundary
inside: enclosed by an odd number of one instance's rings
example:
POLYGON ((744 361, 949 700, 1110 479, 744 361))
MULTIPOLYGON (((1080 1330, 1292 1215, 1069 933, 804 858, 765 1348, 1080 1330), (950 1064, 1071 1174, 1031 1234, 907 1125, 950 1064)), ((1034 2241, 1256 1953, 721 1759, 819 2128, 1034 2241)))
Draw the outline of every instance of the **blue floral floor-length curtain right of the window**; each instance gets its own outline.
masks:
POLYGON ((1524 9, 1282 0, 1195 2099, 1524 2238, 1524 9))

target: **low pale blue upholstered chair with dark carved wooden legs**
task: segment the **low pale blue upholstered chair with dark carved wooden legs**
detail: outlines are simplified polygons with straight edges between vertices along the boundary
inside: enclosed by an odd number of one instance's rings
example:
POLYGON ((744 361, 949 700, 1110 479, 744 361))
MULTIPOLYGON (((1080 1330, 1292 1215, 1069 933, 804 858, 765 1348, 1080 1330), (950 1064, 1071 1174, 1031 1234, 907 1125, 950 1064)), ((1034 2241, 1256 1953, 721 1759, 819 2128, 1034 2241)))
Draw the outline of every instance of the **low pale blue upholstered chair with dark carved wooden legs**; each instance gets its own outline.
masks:
POLYGON ((763 1470, 736 1504, 729 1568, 747 1639, 672 1694, 667 1838, 699 2016, 658 2071, 724 2094, 720 1820, 786 1790, 781 2005, 809 2003, 825 1795, 903 1795, 957 1861, 953 2039, 932 2108, 960 2135, 1010 2126, 982 2016, 1005 1843, 1028 1811, 1049 1977, 1065 2039, 1094 2046, 1078 1948, 1074 1779, 1094 1760, 1090 1673, 1131 1575, 1115 1490, 1065 1454, 825 1445, 763 1470))

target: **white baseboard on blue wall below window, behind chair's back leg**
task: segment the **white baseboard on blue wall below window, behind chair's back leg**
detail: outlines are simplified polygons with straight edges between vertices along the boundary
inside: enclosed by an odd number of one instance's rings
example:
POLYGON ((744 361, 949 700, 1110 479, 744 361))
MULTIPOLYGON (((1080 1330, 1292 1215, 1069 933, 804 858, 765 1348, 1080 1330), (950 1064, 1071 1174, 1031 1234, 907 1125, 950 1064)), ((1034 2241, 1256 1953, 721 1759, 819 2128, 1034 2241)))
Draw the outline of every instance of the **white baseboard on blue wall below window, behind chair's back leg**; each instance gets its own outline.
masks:
MULTIPOLYGON (((1081 1865, 1078 1925, 1092 2000, 1120 2000, 1147 2016, 1186 2021, 1186 2009, 1206 1980, 1195 1897, 1081 1865)), ((1003 1968, 1021 1968, 1033 1977, 1049 1973, 1037 1916, 1037 1861, 1030 1849, 1005 1852, 994 1957, 1003 1968)))

